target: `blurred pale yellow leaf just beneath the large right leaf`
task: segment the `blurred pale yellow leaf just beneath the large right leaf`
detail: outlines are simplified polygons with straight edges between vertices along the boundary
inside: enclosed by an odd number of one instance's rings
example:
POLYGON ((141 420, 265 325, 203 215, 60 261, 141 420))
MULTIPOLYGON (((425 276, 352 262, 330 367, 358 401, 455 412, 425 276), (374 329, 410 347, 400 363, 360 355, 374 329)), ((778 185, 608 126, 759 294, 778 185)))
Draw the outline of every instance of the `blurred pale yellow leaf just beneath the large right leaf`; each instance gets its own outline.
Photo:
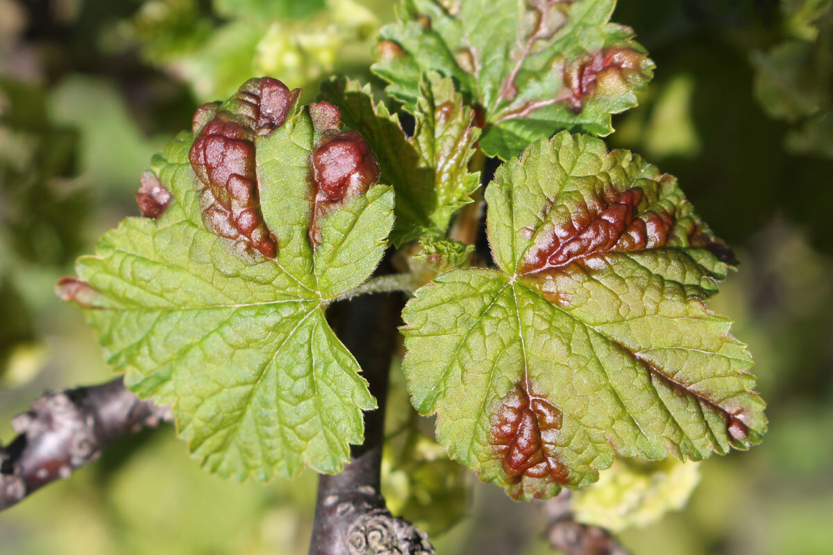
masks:
POLYGON ((686 505, 700 482, 698 467, 676 458, 658 463, 617 458, 598 483, 573 495, 576 520, 614 533, 654 523, 686 505))

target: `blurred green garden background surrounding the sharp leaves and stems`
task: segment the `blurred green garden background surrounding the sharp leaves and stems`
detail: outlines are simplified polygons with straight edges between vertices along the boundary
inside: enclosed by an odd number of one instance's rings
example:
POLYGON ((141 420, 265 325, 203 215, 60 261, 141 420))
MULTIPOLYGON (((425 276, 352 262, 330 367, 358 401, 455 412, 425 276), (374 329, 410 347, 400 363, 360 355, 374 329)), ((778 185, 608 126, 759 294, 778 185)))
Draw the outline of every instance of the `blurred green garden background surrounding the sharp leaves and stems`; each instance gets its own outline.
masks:
MULTIPOLYGON (((0 438, 43 389, 111 377, 52 284, 137 215, 152 153, 248 77, 307 99, 331 73, 371 80, 391 3, 0 0, 0 438)), ((760 447, 687 469, 679 499, 663 491, 644 510, 684 508, 621 538, 639 555, 833 553, 831 0, 626 0, 614 20, 634 27, 657 71, 608 141, 678 176, 736 248, 740 271, 713 306, 751 344, 771 422, 760 447)), ((431 424, 415 421, 400 380, 391 405, 386 492, 434 532, 438 553, 551 553, 540 503, 513 503, 447 461, 416 432, 431 424)), ((652 487, 631 470, 616 480, 652 487)), ((0 554, 306 553, 315 481, 226 482, 169 427, 146 431, 0 514, 0 554)))

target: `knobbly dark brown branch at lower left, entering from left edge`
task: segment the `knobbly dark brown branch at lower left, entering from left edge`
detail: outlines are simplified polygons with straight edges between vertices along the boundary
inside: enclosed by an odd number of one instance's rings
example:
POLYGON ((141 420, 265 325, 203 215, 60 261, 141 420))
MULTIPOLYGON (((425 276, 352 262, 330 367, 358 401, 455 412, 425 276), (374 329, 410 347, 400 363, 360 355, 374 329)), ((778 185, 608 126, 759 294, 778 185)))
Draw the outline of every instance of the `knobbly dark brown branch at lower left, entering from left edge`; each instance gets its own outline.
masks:
POLYGON ((44 394, 12 420, 20 435, 0 447, 0 510, 68 478, 119 436, 170 419, 167 407, 137 399, 121 378, 44 394))

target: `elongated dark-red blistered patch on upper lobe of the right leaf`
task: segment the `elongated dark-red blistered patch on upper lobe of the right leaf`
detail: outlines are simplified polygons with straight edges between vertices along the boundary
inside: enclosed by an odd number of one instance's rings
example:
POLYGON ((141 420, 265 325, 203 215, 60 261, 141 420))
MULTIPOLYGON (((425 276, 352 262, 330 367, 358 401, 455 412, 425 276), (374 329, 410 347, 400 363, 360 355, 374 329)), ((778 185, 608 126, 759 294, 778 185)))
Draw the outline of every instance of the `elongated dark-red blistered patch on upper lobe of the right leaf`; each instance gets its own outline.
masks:
POLYGON ((526 251, 518 271, 532 275, 564 269, 577 260, 609 251, 651 249, 666 245, 675 218, 667 212, 637 216, 640 188, 608 192, 591 205, 574 208, 550 233, 542 233, 526 251))

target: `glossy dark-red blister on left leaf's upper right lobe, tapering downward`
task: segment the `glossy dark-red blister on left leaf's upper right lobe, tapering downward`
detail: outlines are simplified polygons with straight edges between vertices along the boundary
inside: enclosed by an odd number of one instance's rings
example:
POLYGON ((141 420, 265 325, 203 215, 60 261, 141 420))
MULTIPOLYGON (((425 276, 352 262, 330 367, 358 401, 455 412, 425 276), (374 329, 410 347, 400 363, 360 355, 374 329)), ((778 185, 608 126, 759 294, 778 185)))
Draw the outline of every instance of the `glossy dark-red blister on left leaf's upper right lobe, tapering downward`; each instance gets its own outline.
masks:
POLYGON ((376 155, 357 131, 325 133, 312 151, 314 201, 309 240, 321 244, 323 216, 361 196, 379 181, 376 155))

